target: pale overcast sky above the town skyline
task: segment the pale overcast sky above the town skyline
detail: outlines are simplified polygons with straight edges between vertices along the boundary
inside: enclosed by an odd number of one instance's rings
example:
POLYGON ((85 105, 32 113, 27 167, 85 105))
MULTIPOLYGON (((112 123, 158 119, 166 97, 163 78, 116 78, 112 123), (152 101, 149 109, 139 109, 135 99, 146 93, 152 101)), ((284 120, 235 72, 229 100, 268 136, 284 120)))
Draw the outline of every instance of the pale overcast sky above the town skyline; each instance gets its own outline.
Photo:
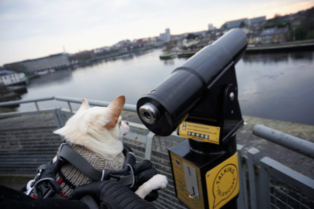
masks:
POLYGON ((314 0, 0 0, 0 65, 110 46, 122 39, 220 28, 225 21, 295 13, 314 0))

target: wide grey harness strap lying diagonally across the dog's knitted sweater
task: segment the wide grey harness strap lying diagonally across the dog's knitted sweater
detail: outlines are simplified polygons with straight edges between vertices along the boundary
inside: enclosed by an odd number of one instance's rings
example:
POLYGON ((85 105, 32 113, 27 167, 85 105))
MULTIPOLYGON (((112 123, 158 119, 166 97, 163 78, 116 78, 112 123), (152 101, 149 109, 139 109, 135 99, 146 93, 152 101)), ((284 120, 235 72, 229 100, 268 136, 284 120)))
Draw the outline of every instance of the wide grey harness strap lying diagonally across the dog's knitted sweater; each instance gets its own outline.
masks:
POLYGON ((69 163, 74 165, 90 178, 96 181, 101 180, 103 172, 95 169, 84 157, 82 157, 68 145, 64 144, 62 147, 60 147, 58 156, 66 159, 69 163))

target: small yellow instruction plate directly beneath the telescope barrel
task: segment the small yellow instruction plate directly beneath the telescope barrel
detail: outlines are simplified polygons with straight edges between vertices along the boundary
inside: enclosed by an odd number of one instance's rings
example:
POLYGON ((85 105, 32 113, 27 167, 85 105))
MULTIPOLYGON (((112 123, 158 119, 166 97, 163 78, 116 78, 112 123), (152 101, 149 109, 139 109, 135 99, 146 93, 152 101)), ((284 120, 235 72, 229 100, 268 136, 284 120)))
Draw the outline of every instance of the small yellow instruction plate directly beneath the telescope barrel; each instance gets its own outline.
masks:
POLYGON ((220 128, 199 123, 183 121, 179 126, 179 136, 192 138, 202 142, 219 144, 220 128))

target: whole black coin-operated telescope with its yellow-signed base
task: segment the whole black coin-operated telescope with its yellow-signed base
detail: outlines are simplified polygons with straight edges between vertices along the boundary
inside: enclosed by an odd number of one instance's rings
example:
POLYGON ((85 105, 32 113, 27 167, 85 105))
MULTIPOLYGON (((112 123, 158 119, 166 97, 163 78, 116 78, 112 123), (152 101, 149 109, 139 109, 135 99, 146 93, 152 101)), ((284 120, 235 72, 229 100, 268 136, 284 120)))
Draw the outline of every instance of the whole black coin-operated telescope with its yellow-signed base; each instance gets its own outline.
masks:
POLYGON ((160 136, 188 140, 169 149, 176 196, 190 208, 236 208, 236 131, 243 119, 235 65, 246 50, 232 29, 176 68, 137 102, 143 124, 160 136))

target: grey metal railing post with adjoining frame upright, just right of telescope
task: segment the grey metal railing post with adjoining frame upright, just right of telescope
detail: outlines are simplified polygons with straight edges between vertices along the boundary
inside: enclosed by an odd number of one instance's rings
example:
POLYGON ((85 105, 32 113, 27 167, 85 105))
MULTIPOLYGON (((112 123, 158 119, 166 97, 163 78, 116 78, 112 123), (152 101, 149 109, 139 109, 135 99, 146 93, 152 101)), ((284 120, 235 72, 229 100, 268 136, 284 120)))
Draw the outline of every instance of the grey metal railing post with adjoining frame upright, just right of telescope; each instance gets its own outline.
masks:
POLYGON ((250 184, 251 208, 270 208, 269 176, 260 165, 258 149, 247 150, 247 167, 250 184))

